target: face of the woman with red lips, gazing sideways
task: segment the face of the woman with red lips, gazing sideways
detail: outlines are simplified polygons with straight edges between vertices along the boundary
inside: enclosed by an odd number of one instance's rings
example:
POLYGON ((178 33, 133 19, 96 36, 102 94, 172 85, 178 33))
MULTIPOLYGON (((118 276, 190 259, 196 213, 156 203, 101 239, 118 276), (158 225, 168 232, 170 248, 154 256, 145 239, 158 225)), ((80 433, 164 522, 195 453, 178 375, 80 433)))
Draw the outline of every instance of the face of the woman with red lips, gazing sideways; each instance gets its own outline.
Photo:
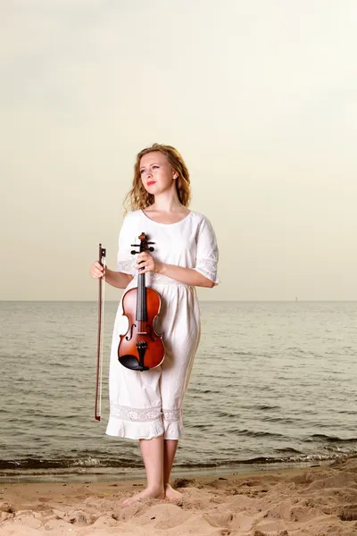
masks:
POLYGON ((140 159, 140 177, 149 194, 156 196, 173 187, 177 172, 160 151, 147 153, 140 159))

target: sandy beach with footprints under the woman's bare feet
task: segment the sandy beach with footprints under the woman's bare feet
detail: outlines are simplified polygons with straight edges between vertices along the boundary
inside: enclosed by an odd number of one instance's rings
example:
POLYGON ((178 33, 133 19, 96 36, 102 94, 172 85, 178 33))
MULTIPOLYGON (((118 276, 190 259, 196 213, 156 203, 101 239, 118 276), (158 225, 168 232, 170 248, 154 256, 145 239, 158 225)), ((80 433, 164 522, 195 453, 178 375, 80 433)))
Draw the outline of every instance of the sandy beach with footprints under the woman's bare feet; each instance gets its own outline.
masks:
POLYGON ((1 536, 357 535, 357 457, 320 467, 177 479, 177 503, 122 508, 145 482, 0 485, 1 536))

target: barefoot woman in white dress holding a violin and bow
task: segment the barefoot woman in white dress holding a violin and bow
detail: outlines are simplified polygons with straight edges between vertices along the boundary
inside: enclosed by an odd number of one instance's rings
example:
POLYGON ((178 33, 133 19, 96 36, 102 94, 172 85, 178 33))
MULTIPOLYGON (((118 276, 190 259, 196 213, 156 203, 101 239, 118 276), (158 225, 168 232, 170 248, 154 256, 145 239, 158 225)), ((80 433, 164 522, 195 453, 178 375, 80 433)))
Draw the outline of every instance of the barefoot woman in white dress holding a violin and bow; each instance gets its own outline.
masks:
MULTIPOLYGON (((124 218, 119 238, 117 272, 105 269, 113 287, 137 286, 137 271, 146 273, 146 285, 162 298, 155 324, 163 333, 165 359, 150 371, 122 366, 117 350, 120 333, 128 330, 121 302, 112 336, 109 373, 110 418, 106 433, 139 440, 147 487, 122 504, 127 507, 146 497, 177 500, 170 472, 182 432, 182 402, 200 339, 200 314, 195 287, 214 287, 218 262, 217 241, 211 223, 190 211, 187 166, 174 147, 154 144, 137 155, 133 188, 128 194, 132 212, 124 218), (131 245, 145 232, 154 252, 131 255, 131 245), (144 267, 144 269, 143 269, 144 267)), ((100 278, 103 268, 91 266, 100 278)))

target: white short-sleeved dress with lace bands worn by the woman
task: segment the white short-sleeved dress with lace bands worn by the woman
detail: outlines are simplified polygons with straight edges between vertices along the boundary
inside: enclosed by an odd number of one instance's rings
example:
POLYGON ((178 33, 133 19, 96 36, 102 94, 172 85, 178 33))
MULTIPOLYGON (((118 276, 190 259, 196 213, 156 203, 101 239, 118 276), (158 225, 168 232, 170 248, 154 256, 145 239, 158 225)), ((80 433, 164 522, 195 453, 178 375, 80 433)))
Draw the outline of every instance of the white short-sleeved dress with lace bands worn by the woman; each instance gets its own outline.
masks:
MULTIPOLYGON (((212 224, 203 214, 190 212, 177 223, 158 223, 143 211, 129 213, 123 221, 117 271, 134 275, 128 289, 137 287, 137 255, 132 244, 145 232, 154 242, 152 255, 165 264, 194 268, 208 279, 217 279, 218 247, 212 224)), ((136 248, 138 249, 138 248, 136 248)), ((132 440, 150 440, 164 434, 178 440, 183 430, 182 402, 200 339, 200 311, 195 287, 159 273, 145 274, 146 286, 162 298, 160 317, 154 327, 163 334, 162 364, 144 372, 132 371, 118 361, 120 334, 128 330, 121 300, 112 334, 109 371, 110 417, 106 433, 132 440)))

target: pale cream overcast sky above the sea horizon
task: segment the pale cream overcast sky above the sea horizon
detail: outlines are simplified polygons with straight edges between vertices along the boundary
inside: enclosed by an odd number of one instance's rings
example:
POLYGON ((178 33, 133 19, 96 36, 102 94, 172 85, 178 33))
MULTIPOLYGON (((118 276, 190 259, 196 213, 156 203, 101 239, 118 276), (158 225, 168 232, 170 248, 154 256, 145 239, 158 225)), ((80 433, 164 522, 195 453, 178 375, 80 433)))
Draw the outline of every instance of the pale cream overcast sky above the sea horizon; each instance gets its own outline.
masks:
POLYGON ((154 142, 216 230, 202 299, 357 299, 356 28, 354 0, 1 0, 0 299, 96 299, 154 142))

